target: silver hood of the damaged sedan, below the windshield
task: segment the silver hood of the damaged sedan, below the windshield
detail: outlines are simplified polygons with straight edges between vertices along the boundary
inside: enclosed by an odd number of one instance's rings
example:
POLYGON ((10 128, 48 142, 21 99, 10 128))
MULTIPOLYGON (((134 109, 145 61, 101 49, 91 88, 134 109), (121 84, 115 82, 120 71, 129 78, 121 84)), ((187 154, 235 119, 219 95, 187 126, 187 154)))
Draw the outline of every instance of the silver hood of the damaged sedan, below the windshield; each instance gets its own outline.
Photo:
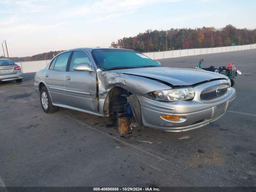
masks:
POLYGON ((208 80, 228 78, 222 74, 208 72, 205 70, 169 67, 132 68, 112 70, 111 72, 143 76, 146 78, 161 80, 174 86, 187 86, 208 80))

